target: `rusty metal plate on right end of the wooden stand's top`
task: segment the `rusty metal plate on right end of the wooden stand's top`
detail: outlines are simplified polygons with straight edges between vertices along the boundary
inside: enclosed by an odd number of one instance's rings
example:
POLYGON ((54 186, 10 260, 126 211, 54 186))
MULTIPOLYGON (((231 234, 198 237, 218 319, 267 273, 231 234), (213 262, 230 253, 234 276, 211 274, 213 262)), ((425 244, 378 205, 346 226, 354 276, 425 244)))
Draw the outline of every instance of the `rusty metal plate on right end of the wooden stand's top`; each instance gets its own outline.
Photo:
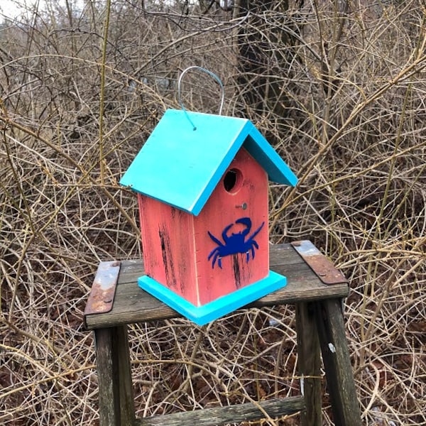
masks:
POLYGON ((324 284, 348 282, 333 263, 330 262, 310 241, 294 241, 291 245, 324 284))

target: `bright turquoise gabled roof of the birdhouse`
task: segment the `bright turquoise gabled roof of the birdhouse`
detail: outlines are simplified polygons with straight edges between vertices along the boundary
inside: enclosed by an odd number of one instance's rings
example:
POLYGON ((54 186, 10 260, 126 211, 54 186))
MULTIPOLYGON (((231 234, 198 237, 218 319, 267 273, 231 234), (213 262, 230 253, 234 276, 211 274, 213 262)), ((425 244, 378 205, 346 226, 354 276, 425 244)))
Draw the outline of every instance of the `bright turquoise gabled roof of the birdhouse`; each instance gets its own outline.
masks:
POLYGON ((197 215, 241 146, 269 180, 296 185, 294 173, 251 121, 175 109, 165 111, 120 183, 197 215))

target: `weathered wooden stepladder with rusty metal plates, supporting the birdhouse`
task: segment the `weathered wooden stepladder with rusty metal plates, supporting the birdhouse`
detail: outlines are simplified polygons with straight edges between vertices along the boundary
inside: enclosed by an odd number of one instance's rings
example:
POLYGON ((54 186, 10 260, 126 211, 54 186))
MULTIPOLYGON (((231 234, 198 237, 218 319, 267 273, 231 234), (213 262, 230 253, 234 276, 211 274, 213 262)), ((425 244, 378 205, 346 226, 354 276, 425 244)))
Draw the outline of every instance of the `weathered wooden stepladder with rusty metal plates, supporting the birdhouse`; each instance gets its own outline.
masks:
POLYGON ((215 426, 300 411, 302 426, 321 426, 321 354, 334 424, 362 425, 342 315, 342 298, 349 293, 346 280, 310 241, 271 246, 270 265, 288 284, 250 306, 295 304, 303 395, 136 419, 127 326, 180 315, 138 287, 141 261, 102 262, 84 312, 84 323, 96 339, 100 425, 215 426))

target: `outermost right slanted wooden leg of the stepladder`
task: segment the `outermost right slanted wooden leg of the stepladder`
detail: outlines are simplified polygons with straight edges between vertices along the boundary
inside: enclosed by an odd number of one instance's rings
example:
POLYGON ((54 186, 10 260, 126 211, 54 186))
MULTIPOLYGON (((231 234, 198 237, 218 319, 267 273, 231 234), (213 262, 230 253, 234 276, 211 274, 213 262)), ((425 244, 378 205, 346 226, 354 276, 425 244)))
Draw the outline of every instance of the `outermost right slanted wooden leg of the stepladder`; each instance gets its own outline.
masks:
POLYGON ((315 302, 327 388, 336 426, 360 426, 361 411, 346 342, 340 299, 315 302))

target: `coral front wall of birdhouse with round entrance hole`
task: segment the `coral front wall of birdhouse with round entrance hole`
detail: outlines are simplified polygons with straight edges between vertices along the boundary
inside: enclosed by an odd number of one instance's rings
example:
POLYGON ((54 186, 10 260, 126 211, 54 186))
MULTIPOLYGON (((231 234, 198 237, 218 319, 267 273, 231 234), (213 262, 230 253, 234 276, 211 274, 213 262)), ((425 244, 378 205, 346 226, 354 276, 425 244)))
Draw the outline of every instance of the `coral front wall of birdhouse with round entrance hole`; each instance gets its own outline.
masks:
POLYGON ((229 170, 239 170, 237 190, 228 192, 224 179, 220 180, 204 209, 194 220, 200 305, 268 276, 268 176, 244 148, 236 154, 229 170), (245 209, 241 207, 243 204, 245 209), (248 231, 246 225, 236 222, 242 218, 251 222, 249 234, 243 238, 245 242, 248 243, 250 236, 261 228, 253 239, 257 248, 251 244, 234 244, 234 249, 238 247, 240 252, 226 256, 227 246, 233 246, 231 241, 239 240, 238 234, 248 231), (226 237, 222 237, 222 233, 229 226, 226 231, 229 243, 226 244, 226 237), (207 232, 220 241, 222 246, 213 241, 207 232), (248 261, 246 253, 249 253, 248 261), (212 257, 209 258, 210 254, 212 257))

